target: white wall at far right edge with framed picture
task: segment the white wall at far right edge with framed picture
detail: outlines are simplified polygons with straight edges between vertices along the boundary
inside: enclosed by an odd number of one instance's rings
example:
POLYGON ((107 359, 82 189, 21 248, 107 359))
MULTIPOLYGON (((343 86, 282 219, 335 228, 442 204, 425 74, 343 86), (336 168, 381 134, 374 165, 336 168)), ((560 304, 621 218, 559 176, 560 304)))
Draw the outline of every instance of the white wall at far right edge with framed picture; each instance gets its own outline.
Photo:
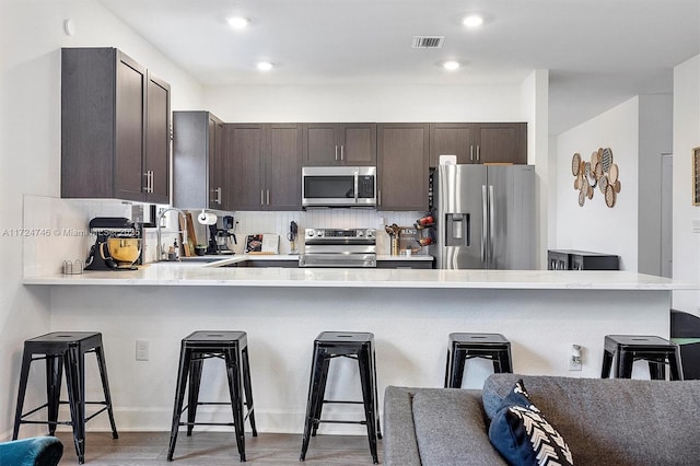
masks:
MULTIPOLYGON (((700 56, 674 69, 674 278, 700 281, 700 234, 693 221, 700 207, 692 205, 692 149, 700 147, 700 56)), ((674 307, 699 314, 700 294, 674 292, 674 307)))

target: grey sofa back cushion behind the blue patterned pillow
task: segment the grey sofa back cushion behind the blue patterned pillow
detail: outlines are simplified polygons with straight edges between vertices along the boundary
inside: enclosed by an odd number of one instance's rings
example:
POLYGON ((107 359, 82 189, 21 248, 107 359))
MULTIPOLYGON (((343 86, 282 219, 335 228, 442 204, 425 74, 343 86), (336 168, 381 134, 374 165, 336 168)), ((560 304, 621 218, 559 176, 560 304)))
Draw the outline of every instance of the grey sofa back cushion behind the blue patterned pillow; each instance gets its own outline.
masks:
POLYGON ((489 418, 518 378, 567 440, 576 464, 698 464, 700 381, 493 374, 482 392, 489 418))

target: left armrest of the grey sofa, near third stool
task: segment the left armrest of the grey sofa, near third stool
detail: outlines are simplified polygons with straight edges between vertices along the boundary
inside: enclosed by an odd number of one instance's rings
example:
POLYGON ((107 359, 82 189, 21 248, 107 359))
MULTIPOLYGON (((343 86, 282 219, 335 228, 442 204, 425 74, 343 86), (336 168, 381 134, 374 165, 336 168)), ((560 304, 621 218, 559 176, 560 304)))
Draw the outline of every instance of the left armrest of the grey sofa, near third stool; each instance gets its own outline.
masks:
POLYGON ((383 444, 386 466, 421 466, 411 408, 415 394, 415 388, 390 385, 384 391, 383 444))

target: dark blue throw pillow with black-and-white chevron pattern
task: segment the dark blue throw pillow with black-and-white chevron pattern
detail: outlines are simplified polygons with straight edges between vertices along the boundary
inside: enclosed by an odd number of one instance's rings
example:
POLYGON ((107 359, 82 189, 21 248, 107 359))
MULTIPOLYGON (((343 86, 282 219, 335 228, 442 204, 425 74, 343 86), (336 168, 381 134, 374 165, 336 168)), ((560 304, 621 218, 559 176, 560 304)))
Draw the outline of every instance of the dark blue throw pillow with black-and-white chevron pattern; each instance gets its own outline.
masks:
POLYGON ((493 416, 489 440, 511 465, 573 465, 569 445, 530 403, 522 380, 493 416))

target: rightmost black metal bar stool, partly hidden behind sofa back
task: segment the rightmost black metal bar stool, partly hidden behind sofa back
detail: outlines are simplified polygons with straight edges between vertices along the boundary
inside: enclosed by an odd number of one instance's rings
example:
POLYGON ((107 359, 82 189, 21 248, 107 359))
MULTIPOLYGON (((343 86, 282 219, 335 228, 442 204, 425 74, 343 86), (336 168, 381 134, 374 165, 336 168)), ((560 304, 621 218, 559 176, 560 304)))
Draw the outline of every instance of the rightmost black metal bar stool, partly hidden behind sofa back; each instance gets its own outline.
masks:
POLYGON ((644 335, 606 335, 603 351, 602 378, 612 375, 615 378, 632 378, 634 361, 649 362, 649 374, 652 380, 666 380, 666 364, 670 370, 672 381, 682 381, 680 349, 664 338, 644 335), (617 364, 612 370, 612 359, 617 354, 617 364))

